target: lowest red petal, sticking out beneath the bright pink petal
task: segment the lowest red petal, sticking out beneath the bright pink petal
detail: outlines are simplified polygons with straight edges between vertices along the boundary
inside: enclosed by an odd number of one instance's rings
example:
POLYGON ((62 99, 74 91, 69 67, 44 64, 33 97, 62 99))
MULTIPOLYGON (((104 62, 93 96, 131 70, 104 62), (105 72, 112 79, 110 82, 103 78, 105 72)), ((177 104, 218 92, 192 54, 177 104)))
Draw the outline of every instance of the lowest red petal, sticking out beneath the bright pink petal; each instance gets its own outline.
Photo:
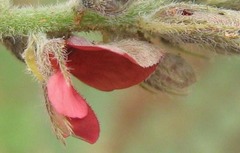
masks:
POLYGON ((100 126, 97 117, 90 106, 88 114, 84 118, 68 118, 72 125, 73 136, 83 139, 91 144, 95 143, 99 137, 100 126))

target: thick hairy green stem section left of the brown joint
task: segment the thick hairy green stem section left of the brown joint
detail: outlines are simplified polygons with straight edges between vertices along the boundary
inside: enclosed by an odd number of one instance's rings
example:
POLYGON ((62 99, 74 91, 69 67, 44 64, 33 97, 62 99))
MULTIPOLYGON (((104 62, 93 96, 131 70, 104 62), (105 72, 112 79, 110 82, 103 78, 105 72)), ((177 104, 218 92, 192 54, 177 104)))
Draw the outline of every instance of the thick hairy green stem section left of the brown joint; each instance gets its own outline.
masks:
POLYGON ((0 34, 28 35, 31 32, 69 30, 74 25, 74 12, 68 4, 48 7, 12 7, 0 15, 0 34))

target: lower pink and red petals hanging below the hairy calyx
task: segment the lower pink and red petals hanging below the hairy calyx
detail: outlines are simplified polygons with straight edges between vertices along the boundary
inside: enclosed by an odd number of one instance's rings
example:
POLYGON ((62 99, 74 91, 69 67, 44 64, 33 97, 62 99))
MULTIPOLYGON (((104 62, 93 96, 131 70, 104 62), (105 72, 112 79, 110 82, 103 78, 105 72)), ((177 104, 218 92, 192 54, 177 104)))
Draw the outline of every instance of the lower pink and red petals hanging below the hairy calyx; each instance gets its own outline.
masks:
MULTIPOLYGON (((60 71, 54 73, 47 83, 48 97, 55 114, 65 116, 71 124, 72 131, 68 131, 64 125, 59 127, 67 137, 73 132, 73 136, 81 138, 89 143, 95 143, 99 137, 99 123, 91 107, 81 95, 67 82, 60 71)), ((61 121, 58 121, 61 122, 61 121)))

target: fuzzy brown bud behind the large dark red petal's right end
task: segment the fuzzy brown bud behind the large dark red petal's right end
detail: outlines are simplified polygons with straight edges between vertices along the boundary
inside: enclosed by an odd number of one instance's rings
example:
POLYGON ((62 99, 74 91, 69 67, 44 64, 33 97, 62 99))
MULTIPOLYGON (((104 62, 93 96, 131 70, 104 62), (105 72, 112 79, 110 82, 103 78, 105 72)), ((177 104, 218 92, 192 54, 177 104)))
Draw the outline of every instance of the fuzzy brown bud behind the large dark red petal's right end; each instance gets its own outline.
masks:
POLYGON ((144 81, 150 87, 169 93, 181 94, 196 82, 193 68, 178 55, 167 53, 155 72, 144 81))

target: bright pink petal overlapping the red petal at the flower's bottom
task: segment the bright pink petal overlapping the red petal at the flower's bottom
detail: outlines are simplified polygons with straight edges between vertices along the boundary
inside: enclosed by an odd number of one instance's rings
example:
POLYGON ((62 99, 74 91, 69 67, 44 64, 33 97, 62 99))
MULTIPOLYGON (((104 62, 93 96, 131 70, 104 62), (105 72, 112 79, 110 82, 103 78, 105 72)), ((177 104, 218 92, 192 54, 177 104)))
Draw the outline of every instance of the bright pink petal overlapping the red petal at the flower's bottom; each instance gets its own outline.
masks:
POLYGON ((58 71, 48 80, 47 92, 49 100, 56 111, 67 117, 83 118, 88 113, 86 101, 68 83, 58 71))

